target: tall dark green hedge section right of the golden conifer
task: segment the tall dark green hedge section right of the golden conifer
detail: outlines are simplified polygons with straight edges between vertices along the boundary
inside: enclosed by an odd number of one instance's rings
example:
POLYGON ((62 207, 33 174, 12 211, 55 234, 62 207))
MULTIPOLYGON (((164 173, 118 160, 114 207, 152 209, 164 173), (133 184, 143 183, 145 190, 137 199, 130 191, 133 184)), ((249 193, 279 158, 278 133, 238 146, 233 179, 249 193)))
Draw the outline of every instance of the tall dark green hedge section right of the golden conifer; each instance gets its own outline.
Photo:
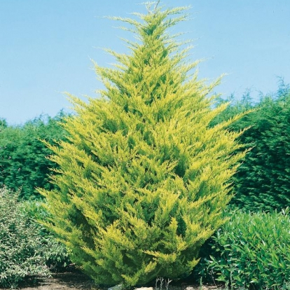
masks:
MULTIPOLYGON (((254 103, 247 92, 218 116, 213 125, 254 109, 230 125, 230 130, 249 130, 239 138, 251 151, 233 177, 232 205, 245 211, 273 211, 290 206, 290 88, 280 80, 274 95, 261 95, 254 103)), ((221 100, 221 102, 225 102, 221 100)))

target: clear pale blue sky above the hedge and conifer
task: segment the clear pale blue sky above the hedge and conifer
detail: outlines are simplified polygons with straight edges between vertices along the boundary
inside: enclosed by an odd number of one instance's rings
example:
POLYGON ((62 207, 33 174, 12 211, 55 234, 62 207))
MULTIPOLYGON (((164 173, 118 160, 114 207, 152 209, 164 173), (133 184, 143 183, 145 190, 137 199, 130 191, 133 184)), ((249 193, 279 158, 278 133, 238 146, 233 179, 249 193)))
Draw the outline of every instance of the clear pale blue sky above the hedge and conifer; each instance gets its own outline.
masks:
MULTIPOLYGON (((129 32, 103 16, 144 12, 138 0, 0 0, 0 118, 25 123, 70 104, 62 92, 97 97, 92 69, 113 62, 102 48, 127 52, 129 32)), ((250 89, 273 92, 277 76, 290 83, 289 0, 163 0, 191 6, 191 20, 174 28, 193 39, 191 60, 200 78, 228 74, 216 88, 224 97, 250 89)))

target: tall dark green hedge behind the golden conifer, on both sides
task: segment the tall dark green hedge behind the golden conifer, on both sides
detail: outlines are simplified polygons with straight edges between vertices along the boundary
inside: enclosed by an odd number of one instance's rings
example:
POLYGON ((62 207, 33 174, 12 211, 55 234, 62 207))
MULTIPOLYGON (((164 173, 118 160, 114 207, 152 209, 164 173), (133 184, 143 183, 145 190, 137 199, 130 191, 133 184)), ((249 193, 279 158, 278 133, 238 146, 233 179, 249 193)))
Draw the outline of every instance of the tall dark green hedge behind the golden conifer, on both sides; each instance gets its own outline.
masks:
MULTIPOLYGON (((232 179, 235 197, 231 205, 251 211, 279 210, 290 205, 289 92, 289 85, 280 79, 277 92, 261 95, 258 102, 249 91, 240 100, 232 95, 226 100, 230 106, 212 121, 216 125, 257 109, 230 125, 235 131, 249 127, 240 141, 252 148, 232 179)), ((220 99, 218 104, 226 101, 220 99)), ((48 182, 49 168, 57 165, 46 159, 52 151, 39 139, 50 143, 65 140, 67 132, 59 124, 62 117, 63 113, 47 120, 39 117, 22 126, 9 126, 0 120, 0 184, 14 191, 22 188, 20 197, 25 199, 39 197, 36 187, 53 188, 48 182)))

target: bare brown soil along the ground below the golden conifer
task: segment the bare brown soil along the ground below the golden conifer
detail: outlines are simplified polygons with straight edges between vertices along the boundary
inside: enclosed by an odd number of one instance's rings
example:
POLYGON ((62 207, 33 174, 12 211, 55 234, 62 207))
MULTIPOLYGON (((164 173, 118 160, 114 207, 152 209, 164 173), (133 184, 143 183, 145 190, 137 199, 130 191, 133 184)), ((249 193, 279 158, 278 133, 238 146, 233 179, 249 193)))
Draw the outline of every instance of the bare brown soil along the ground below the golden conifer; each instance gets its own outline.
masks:
MULTIPOLYGON (((99 287, 81 272, 64 272, 52 274, 52 277, 34 277, 27 279, 18 289, 23 290, 106 290, 99 287)), ((153 286, 154 289, 154 286, 153 286)), ((0 288, 0 290, 8 290, 0 288)), ((162 290, 162 289, 161 289, 162 290)), ((163 290, 166 290, 163 286, 163 290)), ((200 286, 191 282, 176 282, 170 284, 168 290, 221 290, 218 286, 200 286)))

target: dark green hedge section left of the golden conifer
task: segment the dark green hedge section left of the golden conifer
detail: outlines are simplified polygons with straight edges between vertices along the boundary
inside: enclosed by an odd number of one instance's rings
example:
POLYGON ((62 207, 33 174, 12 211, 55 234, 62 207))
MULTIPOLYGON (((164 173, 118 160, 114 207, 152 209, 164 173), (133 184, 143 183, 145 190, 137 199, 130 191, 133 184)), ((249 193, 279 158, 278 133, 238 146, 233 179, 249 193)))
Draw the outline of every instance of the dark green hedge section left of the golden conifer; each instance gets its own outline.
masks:
POLYGON ((51 154, 41 139, 56 144, 66 139, 60 126, 64 113, 55 118, 39 117, 24 125, 9 126, 0 120, 0 186, 20 191, 20 198, 39 198, 36 187, 52 189, 48 182, 55 164, 46 158, 51 154))

